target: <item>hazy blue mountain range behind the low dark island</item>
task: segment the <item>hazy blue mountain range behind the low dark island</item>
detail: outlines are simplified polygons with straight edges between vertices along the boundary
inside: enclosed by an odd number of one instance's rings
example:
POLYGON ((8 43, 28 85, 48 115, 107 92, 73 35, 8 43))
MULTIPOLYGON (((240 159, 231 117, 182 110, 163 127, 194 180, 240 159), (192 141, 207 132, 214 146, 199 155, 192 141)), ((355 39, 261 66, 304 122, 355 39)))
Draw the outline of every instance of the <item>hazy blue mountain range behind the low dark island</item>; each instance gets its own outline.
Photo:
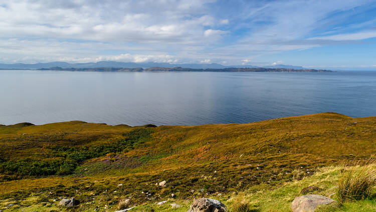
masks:
MULTIPOLYGON (((171 63, 133 63, 133 62, 116 62, 116 61, 100 61, 93 63, 67 63, 67 62, 49 62, 49 63, 35 63, 35 64, 25 64, 25 63, 15 63, 15 64, 3 64, 0 63, 0 69, 41 69, 41 68, 151 68, 151 67, 181 67, 181 68, 194 68, 194 69, 207 69, 207 68, 259 68, 253 65, 231 65, 225 66, 218 63, 209 64, 171 64, 171 63)), ((286 69, 305 69, 301 66, 291 66, 291 65, 273 65, 264 66, 262 68, 286 68, 286 69)))

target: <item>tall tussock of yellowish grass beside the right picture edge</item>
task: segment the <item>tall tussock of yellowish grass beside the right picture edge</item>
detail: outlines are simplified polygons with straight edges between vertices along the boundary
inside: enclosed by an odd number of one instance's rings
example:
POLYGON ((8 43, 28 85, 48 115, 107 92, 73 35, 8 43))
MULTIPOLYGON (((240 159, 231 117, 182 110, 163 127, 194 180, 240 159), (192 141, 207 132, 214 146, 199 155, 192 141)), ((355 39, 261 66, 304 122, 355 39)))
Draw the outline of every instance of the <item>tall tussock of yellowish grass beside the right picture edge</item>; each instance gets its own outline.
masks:
POLYGON ((376 185, 375 160, 370 159, 355 166, 345 166, 338 179, 337 196, 342 204, 370 197, 376 185))

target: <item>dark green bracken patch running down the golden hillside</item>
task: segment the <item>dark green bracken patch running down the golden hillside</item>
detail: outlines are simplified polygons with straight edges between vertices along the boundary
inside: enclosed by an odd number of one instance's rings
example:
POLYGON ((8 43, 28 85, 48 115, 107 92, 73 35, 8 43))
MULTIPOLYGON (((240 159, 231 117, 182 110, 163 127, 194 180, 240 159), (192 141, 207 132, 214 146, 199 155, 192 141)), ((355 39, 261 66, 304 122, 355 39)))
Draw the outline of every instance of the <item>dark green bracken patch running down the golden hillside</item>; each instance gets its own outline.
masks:
POLYGON ((137 145, 150 139, 152 129, 136 129, 123 134, 124 139, 110 144, 84 147, 52 148, 48 158, 37 160, 23 158, 18 160, 0 160, 0 173, 27 176, 68 175, 85 160, 104 156, 108 153, 128 152, 137 145))

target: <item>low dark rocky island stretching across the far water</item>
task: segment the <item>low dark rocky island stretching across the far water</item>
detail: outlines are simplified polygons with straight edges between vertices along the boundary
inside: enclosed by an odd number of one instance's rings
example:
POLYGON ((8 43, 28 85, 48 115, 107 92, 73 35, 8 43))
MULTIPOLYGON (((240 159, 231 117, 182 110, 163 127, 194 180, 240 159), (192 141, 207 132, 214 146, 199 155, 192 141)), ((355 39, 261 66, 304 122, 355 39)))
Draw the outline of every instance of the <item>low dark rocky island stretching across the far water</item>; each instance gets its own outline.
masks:
POLYGON ((293 69, 293 68, 182 68, 182 67, 151 67, 151 68, 40 68, 37 70, 51 71, 100 71, 100 72, 333 72, 317 69, 293 69))

